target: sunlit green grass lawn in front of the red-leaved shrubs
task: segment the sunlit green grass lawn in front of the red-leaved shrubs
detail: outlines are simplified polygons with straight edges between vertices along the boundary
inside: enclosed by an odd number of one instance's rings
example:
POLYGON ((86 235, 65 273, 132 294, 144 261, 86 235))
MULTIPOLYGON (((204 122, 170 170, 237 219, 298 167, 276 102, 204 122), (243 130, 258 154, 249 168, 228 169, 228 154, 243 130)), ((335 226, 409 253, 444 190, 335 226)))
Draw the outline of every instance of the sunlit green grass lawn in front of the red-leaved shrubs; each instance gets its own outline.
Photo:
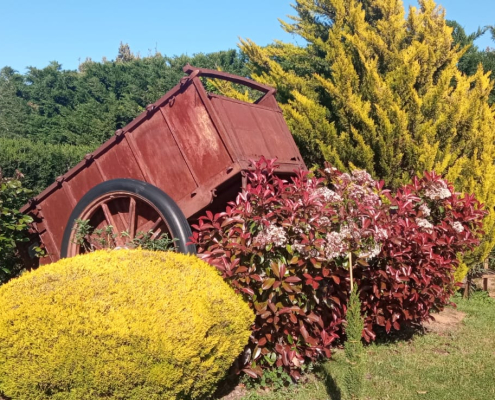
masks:
MULTIPOLYGON (((455 302, 466 313, 457 327, 367 348, 364 399, 495 399, 495 300, 476 294, 455 302)), ((337 352, 307 382, 269 392, 252 390, 242 400, 341 399, 344 366, 343 352, 337 352)))

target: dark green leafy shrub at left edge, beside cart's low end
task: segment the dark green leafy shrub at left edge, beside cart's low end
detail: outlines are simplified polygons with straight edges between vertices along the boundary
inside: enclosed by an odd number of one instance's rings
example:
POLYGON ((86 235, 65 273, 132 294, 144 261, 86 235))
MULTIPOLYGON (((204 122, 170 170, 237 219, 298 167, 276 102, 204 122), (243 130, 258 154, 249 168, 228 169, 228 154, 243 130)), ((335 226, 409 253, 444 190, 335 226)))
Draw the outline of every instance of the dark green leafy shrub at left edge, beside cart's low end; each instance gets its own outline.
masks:
POLYGON ((2 176, 0 169, 0 284, 16 276, 22 270, 17 257, 17 244, 26 240, 31 217, 18 212, 30 191, 22 187, 22 175, 13 178, 2 176))

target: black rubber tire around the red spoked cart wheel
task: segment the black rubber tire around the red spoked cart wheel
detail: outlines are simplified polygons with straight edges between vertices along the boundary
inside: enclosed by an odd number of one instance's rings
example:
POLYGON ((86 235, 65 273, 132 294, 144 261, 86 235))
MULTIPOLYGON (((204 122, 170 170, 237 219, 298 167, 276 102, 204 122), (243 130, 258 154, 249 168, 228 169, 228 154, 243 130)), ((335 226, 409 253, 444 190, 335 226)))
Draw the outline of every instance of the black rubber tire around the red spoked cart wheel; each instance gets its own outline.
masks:
POLYGON ((61 258, 67 257, 70 236, 72 229, 74 228, 75 220, 79 219, 83 211, 93 201, 112 192, 134 193, 153 203, 170 227, 170 235, 173 238, 178 239, 176 242, 177 250, 184 254, 196 254, 196 246, 193 244, 186 244, 192 236, 191 227, 189 226, 184 213, 168 194, 158 189, 156 186, 136 179, 112 179, 102 182, 92 188, 81 200, 79 200, 76 207, 74 207, 74 210, 67 221, 64 236, 62 238, 62 249, 60 251, 61 258))

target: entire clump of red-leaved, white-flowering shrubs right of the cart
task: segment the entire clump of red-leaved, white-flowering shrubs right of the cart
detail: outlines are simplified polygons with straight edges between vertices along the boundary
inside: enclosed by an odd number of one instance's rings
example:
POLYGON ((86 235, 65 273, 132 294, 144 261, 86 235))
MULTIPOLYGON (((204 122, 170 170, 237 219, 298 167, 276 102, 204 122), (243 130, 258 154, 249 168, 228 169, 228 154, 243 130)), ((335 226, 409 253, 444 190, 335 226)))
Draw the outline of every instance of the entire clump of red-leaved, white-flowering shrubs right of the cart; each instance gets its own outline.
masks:
POLYGON ((236 201, 201 217, 192 238, 256 313, 239 359, 248 375, 283 367, 298 379, 306 361, 330 356, 346 312, 350 254, 367 340, 375 324, 398 329, 447 302, 456 253, 477 243, 483 213, 474 198, 460 199, 436 175, 393 196, 365 171, 327 166, 319 178, 301 170, 287 182, 274 175, 275 160, 253 165, 236 201), (435 185, 450 196, 425 200, 435 185))

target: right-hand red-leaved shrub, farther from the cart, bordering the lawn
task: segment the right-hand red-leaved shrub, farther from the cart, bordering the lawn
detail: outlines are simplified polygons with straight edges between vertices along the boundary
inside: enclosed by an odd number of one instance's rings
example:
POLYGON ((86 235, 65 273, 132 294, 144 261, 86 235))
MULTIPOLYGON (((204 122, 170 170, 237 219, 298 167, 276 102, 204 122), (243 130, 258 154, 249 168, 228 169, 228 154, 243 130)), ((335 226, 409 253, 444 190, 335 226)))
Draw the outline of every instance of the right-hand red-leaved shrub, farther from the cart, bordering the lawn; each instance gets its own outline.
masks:
POLYGON ((431 310, 449 302, 457 254, 479 244, 485 215, 474 196, 461 197, 435 173, 386 196, 388 238, 379 256, 355 273, 367 341, 375 324, 398 330, 432 319, 431 310))

